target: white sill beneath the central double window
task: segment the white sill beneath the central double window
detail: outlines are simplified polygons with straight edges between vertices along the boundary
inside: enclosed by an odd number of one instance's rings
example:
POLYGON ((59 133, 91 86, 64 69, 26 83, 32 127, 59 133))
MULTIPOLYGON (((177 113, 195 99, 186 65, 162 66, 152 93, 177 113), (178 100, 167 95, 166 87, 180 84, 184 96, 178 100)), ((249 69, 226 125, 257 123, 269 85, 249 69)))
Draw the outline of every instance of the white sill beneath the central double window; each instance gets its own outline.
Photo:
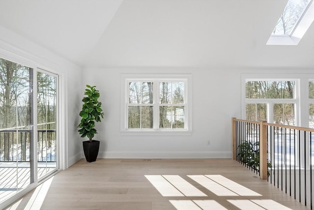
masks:
POLYGON ((121 136, 191 136, 191 130, 122 130, 121 136))

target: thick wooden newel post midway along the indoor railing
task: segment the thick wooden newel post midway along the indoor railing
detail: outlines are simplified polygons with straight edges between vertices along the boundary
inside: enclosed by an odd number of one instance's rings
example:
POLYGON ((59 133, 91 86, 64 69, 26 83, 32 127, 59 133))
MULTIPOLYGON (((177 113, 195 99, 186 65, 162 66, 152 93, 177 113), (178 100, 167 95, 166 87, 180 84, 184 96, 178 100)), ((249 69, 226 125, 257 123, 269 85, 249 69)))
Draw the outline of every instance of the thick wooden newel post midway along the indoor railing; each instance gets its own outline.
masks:
POLYGON ((267 125, 260 121, 260 177, 267 180, 267 125))

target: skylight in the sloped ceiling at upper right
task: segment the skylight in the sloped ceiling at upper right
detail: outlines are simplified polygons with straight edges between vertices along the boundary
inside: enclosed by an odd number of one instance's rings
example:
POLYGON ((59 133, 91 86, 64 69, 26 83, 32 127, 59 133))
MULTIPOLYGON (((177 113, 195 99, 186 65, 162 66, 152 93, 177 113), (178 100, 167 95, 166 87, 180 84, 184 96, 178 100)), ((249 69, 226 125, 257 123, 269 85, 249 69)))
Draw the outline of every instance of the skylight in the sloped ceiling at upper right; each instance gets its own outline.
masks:
POLYGON ((267 45, 297 45, 313 21, 313 0, 288 0, 267 45))

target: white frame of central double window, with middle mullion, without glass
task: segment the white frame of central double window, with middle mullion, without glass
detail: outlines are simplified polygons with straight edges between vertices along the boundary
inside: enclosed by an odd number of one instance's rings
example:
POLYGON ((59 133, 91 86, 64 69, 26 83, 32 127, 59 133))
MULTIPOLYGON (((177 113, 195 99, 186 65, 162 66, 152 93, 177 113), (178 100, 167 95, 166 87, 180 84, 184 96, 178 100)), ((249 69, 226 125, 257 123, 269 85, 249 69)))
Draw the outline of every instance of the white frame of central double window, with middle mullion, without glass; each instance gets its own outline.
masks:
MULTIPOLYGON (((121 74, 121 118, 120 133, 122 135, 191 135, 191 75, 190 74, 121 74), (153 128, 128 128, 129 82, 153 82, 153 128), (184 83, 184 128, 159 128, 160 82, 184 83)), ((173 104, 176 106, 177 104, 173 104)), ((178 104, 182 105, 182 104, 178 104)))

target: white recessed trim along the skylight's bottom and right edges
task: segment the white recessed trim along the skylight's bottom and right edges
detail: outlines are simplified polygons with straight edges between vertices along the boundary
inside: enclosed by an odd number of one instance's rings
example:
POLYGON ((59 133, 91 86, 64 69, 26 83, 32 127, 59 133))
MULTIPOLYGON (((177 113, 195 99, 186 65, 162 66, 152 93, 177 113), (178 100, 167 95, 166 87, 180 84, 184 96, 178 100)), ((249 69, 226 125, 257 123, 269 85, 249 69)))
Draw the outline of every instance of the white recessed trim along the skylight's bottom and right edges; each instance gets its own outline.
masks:
POLYGON ((266 45, 298 45, 306 31, 314 22, 314 0, 308 5, 307 11, 301 16, 291 35, 270 35, 266 45))

